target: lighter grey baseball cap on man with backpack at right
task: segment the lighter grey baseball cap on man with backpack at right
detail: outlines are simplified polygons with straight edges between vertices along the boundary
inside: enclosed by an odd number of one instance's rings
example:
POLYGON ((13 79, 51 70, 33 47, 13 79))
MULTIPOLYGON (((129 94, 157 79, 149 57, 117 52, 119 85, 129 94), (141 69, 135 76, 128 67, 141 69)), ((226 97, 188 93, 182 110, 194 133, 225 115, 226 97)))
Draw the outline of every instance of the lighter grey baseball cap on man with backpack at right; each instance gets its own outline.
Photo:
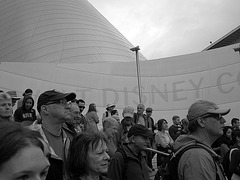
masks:
POLYGON ((189 121, 201 117, 206 114, 226 115, 230 109, 220 109, 215 103, 205 100, 199 100, 193 103, 188 109, 187 118, 189 121))

